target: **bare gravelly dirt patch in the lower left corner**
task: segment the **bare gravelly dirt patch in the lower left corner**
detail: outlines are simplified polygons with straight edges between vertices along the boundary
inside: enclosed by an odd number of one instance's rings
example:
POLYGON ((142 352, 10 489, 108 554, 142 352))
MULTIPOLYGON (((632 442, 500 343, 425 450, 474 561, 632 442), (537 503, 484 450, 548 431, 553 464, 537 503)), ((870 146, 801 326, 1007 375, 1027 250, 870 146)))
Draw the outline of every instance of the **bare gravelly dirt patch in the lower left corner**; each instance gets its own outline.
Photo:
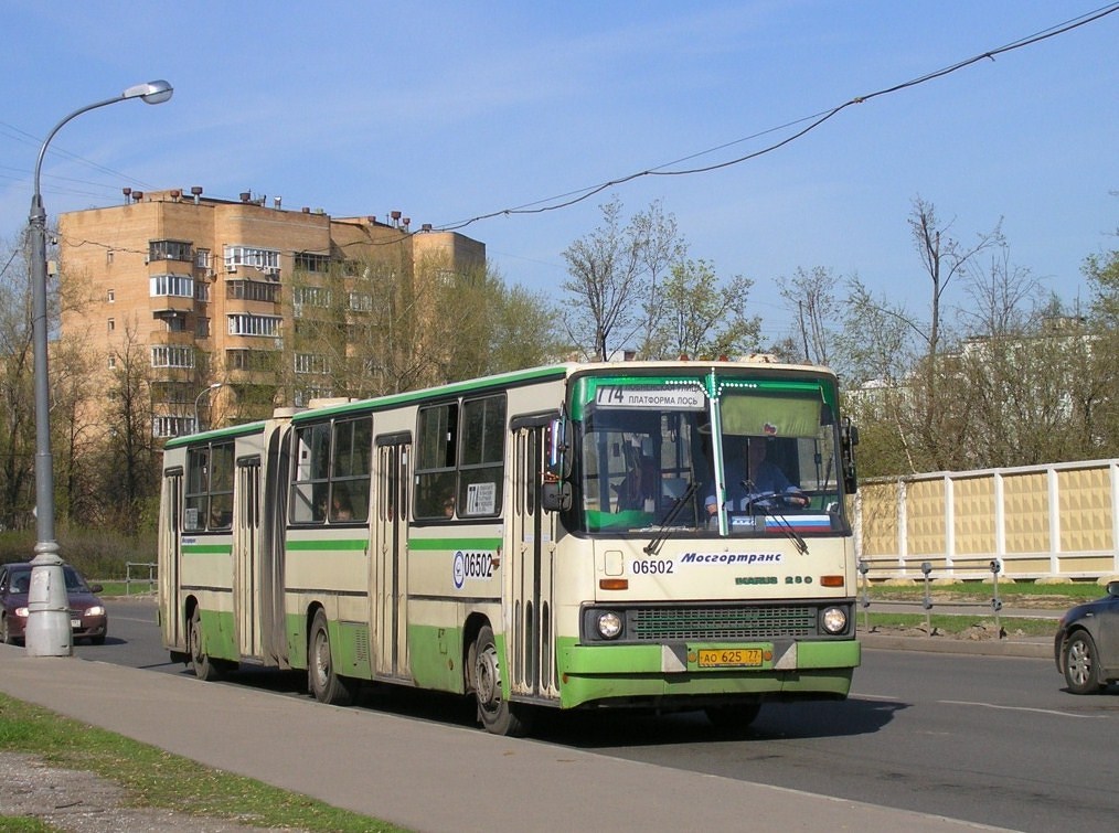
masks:
POLYGON ((129 806, 119 784, 57 769, 31 755, 0 752, 0 829, 4 816, 34 816, 58 830, 122 833, 251 833, 263 827, 157 807, 129 806))

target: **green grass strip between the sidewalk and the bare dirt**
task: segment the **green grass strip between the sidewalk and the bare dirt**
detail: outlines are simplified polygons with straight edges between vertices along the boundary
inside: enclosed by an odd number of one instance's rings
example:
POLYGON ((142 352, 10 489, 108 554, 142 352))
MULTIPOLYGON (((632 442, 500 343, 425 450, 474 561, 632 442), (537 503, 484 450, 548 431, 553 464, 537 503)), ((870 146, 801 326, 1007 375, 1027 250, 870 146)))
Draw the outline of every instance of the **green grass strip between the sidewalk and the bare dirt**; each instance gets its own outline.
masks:
MULTIPOLYGON (((208 769, 197 761, 86 726, 47 709, 0 694, 0 750, 35 755, 51 766, 82 769, 122 785, 134 806, 166 807, 229 818, 258 827, 298 827, 323 833, 403 832, 386 822, 332 807, 298 793, 208 769)), ((23 818, 6 818, 3 830, 23 818)))

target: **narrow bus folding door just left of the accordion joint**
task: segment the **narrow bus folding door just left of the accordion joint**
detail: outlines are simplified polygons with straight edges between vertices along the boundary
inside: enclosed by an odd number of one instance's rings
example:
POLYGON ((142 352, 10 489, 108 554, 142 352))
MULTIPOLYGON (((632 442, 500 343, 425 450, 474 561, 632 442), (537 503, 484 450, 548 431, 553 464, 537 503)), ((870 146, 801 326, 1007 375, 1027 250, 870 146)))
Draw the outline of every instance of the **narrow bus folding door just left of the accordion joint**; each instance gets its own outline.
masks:
POLYGON ((237 651, 242 656, 262 659, 256 568, 260 559, 261 457, 237 461, 234 505, 234 605, 237 616, 237 651))

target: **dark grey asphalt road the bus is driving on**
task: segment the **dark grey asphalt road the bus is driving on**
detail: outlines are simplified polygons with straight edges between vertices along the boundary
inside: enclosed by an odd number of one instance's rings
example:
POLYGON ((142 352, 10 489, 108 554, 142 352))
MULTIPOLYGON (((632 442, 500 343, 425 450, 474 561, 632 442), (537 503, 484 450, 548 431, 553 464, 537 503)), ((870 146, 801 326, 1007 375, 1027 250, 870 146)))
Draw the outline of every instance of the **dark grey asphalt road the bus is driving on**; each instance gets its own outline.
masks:
MULTIPOLYGON (((151 603, 110 600, 109 607, 105 645, 75 646, 76 655, 189 673, 160 649, 151 603)), ((222 684, 307 697, 299 674, 245 672, 222 684)), ((472 722, 460 701, 411 691, 378 689, 358 708, 472 722)), ((535 735, 619 758, 1021 831, 1110 830, 1119 817, 1119 689, 1070 694, 1047 660, 867 650, 849 700, 769 704, 742 739, 720 737, 698 714, 620 712, 551 716, 535 735)), ((743 813, 749 817, 749 808, 743 813)))

